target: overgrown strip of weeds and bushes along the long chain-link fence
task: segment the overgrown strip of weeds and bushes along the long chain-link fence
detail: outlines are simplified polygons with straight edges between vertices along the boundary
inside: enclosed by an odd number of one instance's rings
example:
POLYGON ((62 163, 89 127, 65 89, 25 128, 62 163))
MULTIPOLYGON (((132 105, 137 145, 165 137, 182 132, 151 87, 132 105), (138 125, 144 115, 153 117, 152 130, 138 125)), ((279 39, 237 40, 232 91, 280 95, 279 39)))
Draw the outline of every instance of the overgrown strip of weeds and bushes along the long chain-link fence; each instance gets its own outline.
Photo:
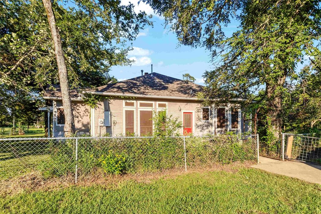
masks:
POLYGON ((39 165, 43 174, 62 176, 90 173, 146 173, 166 169, 182 170, 187 166, 210 166, 256 159, 256 140, 241 136, 185 138, 78 138, 50 142, 50 158, 39 165))

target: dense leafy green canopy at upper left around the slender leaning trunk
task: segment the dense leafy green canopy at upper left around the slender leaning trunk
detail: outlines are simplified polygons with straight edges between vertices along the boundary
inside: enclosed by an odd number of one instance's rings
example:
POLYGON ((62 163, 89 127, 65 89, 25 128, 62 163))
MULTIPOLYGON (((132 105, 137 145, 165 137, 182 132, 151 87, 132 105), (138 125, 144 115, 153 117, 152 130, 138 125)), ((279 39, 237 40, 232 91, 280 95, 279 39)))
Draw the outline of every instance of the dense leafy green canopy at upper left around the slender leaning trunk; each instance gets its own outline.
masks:
MULTIPOLYGON (((120 1, 54 1, 71 88, 107 85, 111 66, 129 65, 132 41, 149 21, 120 1)), ((0 84, 38 94, 58 83, 48 19, 41 0, 0 1, 0 84)))

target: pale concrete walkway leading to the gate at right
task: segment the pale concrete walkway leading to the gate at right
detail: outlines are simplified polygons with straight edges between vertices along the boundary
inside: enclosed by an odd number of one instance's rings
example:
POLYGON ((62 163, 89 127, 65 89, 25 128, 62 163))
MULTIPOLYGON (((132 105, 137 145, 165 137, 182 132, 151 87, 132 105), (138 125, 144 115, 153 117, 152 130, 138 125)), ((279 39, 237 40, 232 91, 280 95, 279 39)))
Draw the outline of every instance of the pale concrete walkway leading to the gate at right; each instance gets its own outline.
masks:
POLYGON ((280 161, 260 156, 260 164, 251 167, 321 184, 321 165, 297 161, 280 161))

